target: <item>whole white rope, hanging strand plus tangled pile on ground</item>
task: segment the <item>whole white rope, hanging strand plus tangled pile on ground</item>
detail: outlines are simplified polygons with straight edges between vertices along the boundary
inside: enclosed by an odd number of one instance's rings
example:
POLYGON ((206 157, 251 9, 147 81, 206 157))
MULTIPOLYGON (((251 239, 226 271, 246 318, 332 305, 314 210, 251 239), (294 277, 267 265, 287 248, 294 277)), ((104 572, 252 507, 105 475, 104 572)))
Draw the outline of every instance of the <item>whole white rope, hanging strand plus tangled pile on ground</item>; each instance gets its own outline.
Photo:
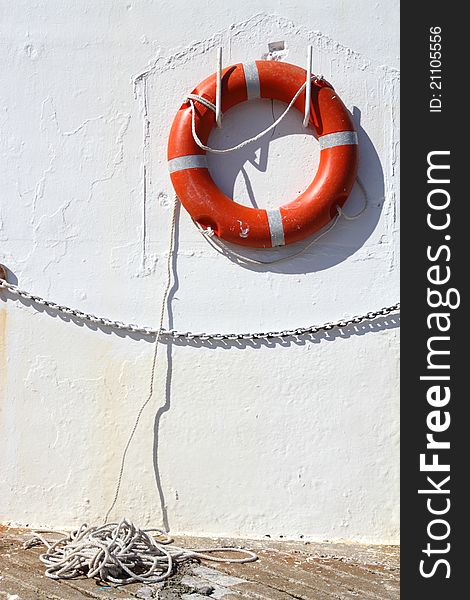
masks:
MULTIPOLYGON (((183 562, 198 558, 217 562, 246 563, 258 558, 254 552, 241 548, 221 547, 186 550, 172 545, 173 540, 161 529, 140 529, 127 519, 123 519, 119 523, 108 524, 109 515, 119 497, 127 452, 137 431, 141 416, 153 397, 158 348, 172 279, 171 261, 174 250, 177 208, 178 199, 175 196, 168 241, 166 281, 159 325, 154 341, 149 390, 145 401, 137 412, 124 447, 114 498, 106 513, 104 523, 101 527, 89 527, 84 523, 77 530, 72 531, 70 534, 63 534, 62 537, 54 541, 48 541, 44 537, 43 534, 47 531, 35 531, 33 538, 25 543, 27 548, 38 543, 46 546, 47 551, 41 554, 40 560, 46 565, 45 575, 52 579, 71 579, 85 574, 89 578, 99 577, 102 581, 119 585, 137 581, 158 583, 165 581, 173 574, 178 561, 183 562), (156 532, 160 536, 160 540, 157 541, 154 536, 149 535, 150 532, 156 532), (210 556, 215 552, 236 552, 243 554, 244 557, 220 558, 210 556)), ((54 532, 49 531, 48 533, 54 532)))

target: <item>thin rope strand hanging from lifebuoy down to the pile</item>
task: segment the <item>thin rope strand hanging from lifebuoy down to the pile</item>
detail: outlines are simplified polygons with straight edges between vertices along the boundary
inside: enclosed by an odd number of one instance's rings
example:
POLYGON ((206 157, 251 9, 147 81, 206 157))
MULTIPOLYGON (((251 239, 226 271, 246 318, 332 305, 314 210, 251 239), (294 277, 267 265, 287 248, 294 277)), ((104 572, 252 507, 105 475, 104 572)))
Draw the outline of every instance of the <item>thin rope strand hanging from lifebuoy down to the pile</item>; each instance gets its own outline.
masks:
POLYGON ((145 402, 140 407, 139 412, 137 413, 137 417, 134 421, 134 426, 131 430, 131 433, 130 433, 129 438, 126 443, 126 446, 124 448, 124 452, 122 454, 122 460, 121 460, 121 467, 119 470, 119 475, 118 475, 117 484, 116 484, 116 491, 114 494, 114 499, 111 503, 111 506, 108 508, 108 512, 106 513, 106 516, 104 518, 104 525, 106 525, 106 523, 108 522, 108 517, 109 517, 111 511, 113 510, 114 506, 116 505, 116 502, 117 502, 117 499, 119 496, 119 491, 121 489, 121 483, 122 483, 122 476, 124 473, 124 466, 126 463, 127 451, 129 450, 129 446, 131 445, 132 439, 134 438, 134 435, 135 435, 135 432, 139 425, 142 413, 144 412, 147 404, 150 402, 150 400, 152 399, 152 396, 153 396, 155 368, 157 366, 158 347, 160 345, 160 337, 161 337, 162 330, 163 330, 163 320, 165 318, 165 307, 166 307, 168 293, 170 291, 170 286, 171 286, 171 261, 173 258, 177 208, 178 208, 178 199, 175 196, 174 203, 173 203, 173 213, 172 213, 171 225, 170 225, 170 233, 169 233, 170 239, 169 239, 169 243, 168 243, 168 256, 167 256, 167 262, 166 262, 166 283, 165 283, 165 288, 163 290, 162 305, 161 305, 161 309, 160 309, 160 319, 159 319, 158 329, 157 329, 156 337, 155 337, 155 341, 154 341, 154 349, 153 349, 153 356, 152 356, 152 368, 150 370, 150 384, 149 384, 148 395, 147 395, 147 398, 145 399, 145 402))

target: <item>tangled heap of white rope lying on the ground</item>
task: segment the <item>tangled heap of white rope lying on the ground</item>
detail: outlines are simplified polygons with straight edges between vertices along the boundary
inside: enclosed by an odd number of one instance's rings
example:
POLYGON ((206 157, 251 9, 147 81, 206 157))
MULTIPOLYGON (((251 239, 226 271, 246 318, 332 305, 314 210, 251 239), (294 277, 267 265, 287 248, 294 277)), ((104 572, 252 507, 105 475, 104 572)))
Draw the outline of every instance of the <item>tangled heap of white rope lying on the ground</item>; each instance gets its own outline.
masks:
POLYGON ((101 527, 83 524, 70 534, 38 530, 24 547, 39 544, 46 546, 46 551, 39 557, 46 565, 46 577, 72 579, 85 575, 115 585, 165 581, 178 564, 191 559, 248 563, 258 558, 254 552, 243 548, 180 548, 164 531, 139 529, 127 519, 101 527), (45 534, 51 533, 62 535, 49 540, 45 534), (214 553, 237 553, 242 557, 212 556, 214 553))

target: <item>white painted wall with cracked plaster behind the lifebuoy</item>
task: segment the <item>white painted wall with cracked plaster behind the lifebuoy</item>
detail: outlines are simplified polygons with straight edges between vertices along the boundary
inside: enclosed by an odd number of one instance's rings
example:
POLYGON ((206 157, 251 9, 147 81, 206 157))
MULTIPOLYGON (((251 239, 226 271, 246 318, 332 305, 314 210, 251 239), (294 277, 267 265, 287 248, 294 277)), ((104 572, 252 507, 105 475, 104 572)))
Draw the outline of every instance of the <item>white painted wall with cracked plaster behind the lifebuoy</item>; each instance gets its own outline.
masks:
MULTIPOLYGON (((273 268, 220 256, 183 210, 171 325, 282 329, 396 302, 397 22, 396 0, 1 0, 0 262, 10 280, 157 325, 174 113, 213 72, 216 47, 230 64, 283 40, 284 60, 302 65, 313 44, 314 70, 354 112, 370 206, 273 268)), ((281 108, 239 106, 211 143, 252 135, 281 108)), ((248 179, 254 200, 274 207, 306 186, 317 158, 297 113, 210 165, 236 199, 248 179)), ((355 189, 345 208, 361 203, 355 189)), ((100 522, 148 390, 151 340, 5 294, 0 311, 0 522, 100 522)), ((396 542, 397 368, 397 317, 282 344, 162 346, 113 516, 174 533, 396 542)))

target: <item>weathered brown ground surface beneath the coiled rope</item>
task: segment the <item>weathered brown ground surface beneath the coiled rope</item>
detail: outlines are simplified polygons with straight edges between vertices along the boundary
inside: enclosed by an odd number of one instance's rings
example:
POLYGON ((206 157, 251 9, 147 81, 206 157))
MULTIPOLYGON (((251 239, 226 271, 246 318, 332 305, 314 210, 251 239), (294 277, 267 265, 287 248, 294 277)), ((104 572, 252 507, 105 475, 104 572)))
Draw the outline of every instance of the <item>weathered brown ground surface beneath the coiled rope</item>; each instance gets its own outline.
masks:
MULTIPOLYGON (((0 599, 6 600, 398 600, 396 546, 243 542, 260 557, 245 565, 188 563, 165 585, 121 588, 89 579, 44 577, 40 548, 25 550, 24 531, 0 528, 0 599)), ((237 545, 234 540, 177 539, 178 545, 237 545)), ((240 542, 238 542, 239 544, 240 542)))

